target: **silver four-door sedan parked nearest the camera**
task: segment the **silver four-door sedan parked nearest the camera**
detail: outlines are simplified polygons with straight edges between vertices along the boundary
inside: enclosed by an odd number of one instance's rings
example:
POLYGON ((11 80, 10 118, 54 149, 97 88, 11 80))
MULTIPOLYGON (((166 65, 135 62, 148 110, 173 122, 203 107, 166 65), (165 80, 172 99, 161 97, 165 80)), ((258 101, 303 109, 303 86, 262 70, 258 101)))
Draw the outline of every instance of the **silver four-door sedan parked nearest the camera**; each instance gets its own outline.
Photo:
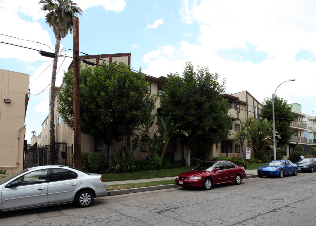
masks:
POLYGON ((0 180, 0 212, 76 203, 88 207, 105 196, 100 174, 88 174, 68 166, 37 166, 0 180))

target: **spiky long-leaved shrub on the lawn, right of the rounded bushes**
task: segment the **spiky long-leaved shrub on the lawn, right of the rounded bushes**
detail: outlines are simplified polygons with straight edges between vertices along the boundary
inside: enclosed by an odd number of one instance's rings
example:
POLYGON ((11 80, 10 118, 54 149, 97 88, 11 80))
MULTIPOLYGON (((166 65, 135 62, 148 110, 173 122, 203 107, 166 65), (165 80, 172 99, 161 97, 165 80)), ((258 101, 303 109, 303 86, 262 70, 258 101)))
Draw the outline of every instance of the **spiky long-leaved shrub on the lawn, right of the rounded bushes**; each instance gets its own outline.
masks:
POLYGON ((110 162, 108 162, 109 169, 125 173, 131 171, 136 167, 135 156, 130 148, 122 146, 119 149, 115 149, 110 156, 110 162))

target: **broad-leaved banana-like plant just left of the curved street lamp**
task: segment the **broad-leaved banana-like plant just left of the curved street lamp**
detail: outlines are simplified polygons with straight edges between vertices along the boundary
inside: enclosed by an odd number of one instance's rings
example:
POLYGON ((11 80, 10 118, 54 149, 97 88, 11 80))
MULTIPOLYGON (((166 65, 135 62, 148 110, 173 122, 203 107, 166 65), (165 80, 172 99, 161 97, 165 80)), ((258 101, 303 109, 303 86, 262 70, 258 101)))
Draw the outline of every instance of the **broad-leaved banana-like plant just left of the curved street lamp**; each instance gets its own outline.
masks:
MULTIPOLYGON (((273 148, 273 130, 272 122, 267 119, 257 119, 256 124, 248 128, 251 134, 251 142, 254 148, 254 155, 256 159, 267 162, 266 151, 273 148)), ((276 133, 276 137, 279 135, 276 133)))

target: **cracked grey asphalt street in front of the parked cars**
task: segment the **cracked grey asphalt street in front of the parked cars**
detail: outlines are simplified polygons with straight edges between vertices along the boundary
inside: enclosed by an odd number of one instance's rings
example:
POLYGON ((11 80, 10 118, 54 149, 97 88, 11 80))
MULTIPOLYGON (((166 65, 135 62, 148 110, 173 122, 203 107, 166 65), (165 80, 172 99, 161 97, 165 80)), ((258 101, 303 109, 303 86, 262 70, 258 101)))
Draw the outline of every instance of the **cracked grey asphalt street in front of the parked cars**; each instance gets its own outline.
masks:
POLYGON ((211 190, 181 187, 113 195, 88 208, 59 205, 4 213, 0 224, 81 225, 316 225, 316 173, 245 179, 211 190))

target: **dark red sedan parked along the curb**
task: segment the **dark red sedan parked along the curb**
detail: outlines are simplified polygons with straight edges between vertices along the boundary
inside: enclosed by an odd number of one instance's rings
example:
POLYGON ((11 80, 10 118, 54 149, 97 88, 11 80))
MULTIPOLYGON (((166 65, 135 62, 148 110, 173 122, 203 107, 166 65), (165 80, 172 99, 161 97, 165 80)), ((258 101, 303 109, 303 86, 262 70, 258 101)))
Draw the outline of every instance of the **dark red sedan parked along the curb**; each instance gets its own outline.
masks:
POLYGON ((203 187, 204 190, 209 190, 214 184, 240 184, 245 177, 244 167, 230 161, 206 161, 191 171, 179 174, 175 183, 181 187, 203 187))

